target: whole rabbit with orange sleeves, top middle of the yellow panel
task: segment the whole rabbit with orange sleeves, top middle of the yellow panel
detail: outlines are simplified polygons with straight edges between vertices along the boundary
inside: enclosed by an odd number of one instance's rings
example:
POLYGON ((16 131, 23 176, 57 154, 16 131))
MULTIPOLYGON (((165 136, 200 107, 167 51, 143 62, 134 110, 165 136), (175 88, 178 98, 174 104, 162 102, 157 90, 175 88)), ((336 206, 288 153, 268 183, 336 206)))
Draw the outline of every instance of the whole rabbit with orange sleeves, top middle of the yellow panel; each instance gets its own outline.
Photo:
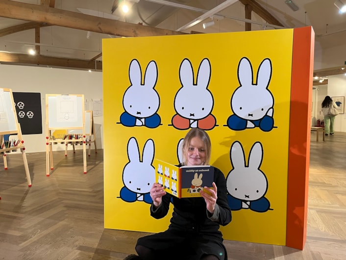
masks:
POLYGON ((216 119, 211 114, 214 98, 208 89, 210 67, 209 60, 204 58, 199 65, 196 84, 194 84, 194 71, 190 60, 185 58, 181 62, 179 78, 182 87, 174 98, 174 109, 177 113, 172 118, 174 128, 210 130, 215 127, 216 119))

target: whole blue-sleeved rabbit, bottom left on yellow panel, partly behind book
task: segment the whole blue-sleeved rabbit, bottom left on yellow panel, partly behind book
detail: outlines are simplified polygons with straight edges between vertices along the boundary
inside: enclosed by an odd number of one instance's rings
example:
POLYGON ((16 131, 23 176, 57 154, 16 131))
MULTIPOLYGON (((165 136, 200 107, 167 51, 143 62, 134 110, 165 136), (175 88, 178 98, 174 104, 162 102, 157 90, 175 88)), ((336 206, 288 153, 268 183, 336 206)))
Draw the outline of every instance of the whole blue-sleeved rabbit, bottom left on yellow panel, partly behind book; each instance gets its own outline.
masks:
POLYGON ((129 162, 123 170, 124 187, 120 197, 126 202, 145 201, 151 203, 149 194, 155 182, 155 168, 151 165, 154 158, 154 142, 148 139, 144 145, 142 161, 136 138, 131 137, 127 143, 129 162))

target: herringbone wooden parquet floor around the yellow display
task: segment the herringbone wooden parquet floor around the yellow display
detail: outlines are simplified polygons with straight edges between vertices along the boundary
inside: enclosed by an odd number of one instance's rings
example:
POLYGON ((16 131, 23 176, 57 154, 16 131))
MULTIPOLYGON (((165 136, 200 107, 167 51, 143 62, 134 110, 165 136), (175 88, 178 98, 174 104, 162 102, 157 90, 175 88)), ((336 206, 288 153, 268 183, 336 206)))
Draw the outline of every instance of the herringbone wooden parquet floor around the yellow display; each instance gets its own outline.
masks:
MULTIPOLYGON (((304 250, 224 241, 230 260, 346 259, 346 133, 316 141, 311 133, 309 208, 304 250)), ((103 228, 103 151, 54 152, 46 177, 46 154, 27 154, 32 187, 20 154, 0 163, 0 260, 122 260, 135 253, 140 232, 103 228)), ((164 257, 163 257, 164 260, 164 257)))

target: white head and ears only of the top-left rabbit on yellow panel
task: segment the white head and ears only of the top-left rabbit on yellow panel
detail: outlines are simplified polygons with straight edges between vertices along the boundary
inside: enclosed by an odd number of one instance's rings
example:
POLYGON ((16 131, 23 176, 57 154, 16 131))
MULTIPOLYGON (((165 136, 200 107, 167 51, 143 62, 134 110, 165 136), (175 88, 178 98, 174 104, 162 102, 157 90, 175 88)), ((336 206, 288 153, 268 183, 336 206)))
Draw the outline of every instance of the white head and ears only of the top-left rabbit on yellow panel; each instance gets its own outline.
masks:
POLYGON ((142 84, 142 71, 139 62, 133 59, 130 63, 129 78, 131 85, 123 97, 124 110, 134 117, 149 117, 159 108, 160 97, 154 89, 157 81, 157 66, 150 61, 142 84))

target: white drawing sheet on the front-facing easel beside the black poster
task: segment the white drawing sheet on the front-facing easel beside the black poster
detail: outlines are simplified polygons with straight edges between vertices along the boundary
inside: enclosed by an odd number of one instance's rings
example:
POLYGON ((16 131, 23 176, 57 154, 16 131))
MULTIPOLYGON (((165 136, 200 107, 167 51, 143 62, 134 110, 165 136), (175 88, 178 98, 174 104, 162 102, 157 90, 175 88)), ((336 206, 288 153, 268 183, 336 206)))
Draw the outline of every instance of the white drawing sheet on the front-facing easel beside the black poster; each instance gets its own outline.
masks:
POLYGON ((77 122, 77 96, 56 97, 57 122, 77 122))

